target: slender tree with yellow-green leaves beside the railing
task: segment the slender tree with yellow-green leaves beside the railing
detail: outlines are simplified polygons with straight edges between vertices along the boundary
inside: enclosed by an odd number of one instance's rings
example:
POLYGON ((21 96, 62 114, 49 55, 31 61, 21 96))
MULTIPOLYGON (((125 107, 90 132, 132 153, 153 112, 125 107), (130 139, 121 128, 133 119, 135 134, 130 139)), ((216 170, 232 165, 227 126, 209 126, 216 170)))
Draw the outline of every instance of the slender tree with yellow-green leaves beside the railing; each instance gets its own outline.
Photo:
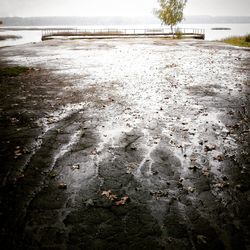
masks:
POLYGON ((183 19, 183 10, 187 0, 158 0, 160 9, 155 11, 162 23, 169 25, 174 37, 173 27, 183 19))

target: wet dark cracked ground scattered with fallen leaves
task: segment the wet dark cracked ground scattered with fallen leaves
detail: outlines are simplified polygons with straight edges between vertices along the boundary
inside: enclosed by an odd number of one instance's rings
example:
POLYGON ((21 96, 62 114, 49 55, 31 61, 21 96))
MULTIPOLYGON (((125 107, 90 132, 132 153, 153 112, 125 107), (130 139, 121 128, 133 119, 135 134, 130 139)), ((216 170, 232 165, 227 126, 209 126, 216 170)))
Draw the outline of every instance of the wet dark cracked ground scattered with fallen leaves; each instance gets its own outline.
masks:
POLYGON ((250 50, 163 39, 0 49, 1 249, 250 249, 250 50))

